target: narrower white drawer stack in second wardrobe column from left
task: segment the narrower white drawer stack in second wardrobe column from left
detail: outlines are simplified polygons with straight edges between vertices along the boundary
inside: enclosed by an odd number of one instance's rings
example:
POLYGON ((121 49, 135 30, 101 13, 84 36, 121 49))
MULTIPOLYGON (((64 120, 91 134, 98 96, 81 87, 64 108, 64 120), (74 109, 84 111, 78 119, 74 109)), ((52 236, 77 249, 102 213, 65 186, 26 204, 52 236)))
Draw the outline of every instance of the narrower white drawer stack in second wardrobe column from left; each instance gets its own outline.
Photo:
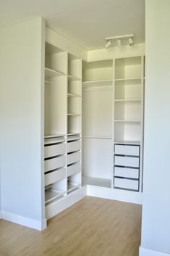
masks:
MULTIPOLYGON (((67 141, 67 177, 68 183, 80 185, 80 179, 76 178, 76 174, 81 172, 81 140, 80 136, 68 136, 67 141)), ((69 185, 69 184, 68 184, 69 185)))

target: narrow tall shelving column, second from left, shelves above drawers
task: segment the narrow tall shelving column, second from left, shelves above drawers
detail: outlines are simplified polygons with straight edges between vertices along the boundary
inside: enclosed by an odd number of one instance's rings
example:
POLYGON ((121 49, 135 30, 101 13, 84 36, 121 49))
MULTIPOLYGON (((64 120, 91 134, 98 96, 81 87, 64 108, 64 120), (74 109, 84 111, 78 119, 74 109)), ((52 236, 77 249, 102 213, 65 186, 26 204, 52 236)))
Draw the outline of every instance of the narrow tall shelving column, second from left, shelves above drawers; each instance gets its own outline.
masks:
POLYGON ((68 54, 67 194, 82 186, 82 59, 68 54))

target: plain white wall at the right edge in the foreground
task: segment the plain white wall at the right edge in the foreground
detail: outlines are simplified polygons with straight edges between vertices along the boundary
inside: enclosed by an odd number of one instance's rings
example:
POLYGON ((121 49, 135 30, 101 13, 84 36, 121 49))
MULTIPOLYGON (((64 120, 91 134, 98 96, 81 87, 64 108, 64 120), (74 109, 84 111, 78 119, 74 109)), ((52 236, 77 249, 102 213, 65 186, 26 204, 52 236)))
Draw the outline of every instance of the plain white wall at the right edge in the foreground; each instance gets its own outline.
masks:
POLYGON ((170 254, 170 1, 148 0, 145 9, 145 152, 140 255, 150 256, 164 255, 156 251, 170 254))

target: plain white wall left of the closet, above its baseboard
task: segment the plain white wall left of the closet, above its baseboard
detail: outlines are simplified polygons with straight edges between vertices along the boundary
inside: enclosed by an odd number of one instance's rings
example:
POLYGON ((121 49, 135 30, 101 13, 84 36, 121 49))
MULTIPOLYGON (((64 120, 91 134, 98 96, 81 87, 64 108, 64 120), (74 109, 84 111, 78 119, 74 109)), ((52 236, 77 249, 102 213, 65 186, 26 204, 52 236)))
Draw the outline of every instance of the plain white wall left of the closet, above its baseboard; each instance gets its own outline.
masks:
POLYGON ((41 18, 0 30, 1 207, 40 221, 43 31, 41 18))

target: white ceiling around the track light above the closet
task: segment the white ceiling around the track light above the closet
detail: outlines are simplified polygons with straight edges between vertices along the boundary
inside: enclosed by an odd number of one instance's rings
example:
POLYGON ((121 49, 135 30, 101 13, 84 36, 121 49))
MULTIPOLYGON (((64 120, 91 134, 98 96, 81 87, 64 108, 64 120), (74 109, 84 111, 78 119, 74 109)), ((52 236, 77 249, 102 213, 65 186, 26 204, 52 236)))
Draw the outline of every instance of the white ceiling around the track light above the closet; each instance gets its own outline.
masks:
POLYGON ((35 17, 85 49, 103 48, 105 37, 135 33, 145 41, 145 0, 0 0, 0 25, 35 17))

